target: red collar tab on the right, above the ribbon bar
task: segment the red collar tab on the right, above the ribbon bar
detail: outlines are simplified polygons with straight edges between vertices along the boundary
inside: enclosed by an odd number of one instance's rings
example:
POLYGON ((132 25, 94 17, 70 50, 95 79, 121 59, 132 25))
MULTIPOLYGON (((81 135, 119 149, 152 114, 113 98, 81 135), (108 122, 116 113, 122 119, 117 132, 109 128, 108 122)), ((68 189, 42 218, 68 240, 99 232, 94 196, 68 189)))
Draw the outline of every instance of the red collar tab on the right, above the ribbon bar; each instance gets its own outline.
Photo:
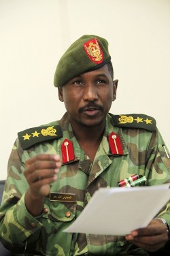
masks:
POLYGON ((112 131, 109 137, 109 147, 113 155, 123 155, 122 144, 120 142, 120 137, 112 131))

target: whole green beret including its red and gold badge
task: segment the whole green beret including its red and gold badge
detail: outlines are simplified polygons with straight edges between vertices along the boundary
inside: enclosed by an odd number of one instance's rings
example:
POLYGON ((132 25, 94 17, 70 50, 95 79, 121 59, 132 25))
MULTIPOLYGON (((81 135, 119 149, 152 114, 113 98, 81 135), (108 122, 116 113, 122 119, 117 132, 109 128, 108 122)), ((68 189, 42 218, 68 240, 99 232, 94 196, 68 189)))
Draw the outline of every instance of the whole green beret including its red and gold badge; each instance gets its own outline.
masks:
POLYGON ((54 86, 66 82, 86 71, 103 67, 110 61, 108 42, 98 35, 83 35, 63 54, 54 74, 54 86))

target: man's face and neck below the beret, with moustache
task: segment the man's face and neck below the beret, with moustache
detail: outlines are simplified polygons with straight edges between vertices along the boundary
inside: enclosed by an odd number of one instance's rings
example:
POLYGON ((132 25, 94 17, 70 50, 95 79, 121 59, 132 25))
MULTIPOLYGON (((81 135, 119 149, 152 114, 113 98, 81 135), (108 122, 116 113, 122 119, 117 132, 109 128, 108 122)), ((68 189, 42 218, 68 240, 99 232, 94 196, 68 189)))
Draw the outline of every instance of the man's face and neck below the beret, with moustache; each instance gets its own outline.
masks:
POLYGON ((113 81, 107 65, 77 76, 58 89, 75 137, 93 161, 105 129, 105 116, 116 99, 118 80, 113 81))

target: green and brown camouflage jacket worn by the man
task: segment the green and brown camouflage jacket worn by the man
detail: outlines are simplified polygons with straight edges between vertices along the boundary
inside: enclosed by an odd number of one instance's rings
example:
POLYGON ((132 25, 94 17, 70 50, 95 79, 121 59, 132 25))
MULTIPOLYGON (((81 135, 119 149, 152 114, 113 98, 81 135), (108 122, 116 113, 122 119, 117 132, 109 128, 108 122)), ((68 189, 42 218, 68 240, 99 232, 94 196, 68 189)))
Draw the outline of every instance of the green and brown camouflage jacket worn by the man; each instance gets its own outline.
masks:
MULTIPOLYGON (((118 187, 120 180, 133 174, 146 176, 143 184, 146 186, 170 182, 169 152, 154 118, 142 114, 108 114, 93 163, 80 148, 67 113, 60 121, 18 133, 18 138, 10 155, 0 208, 0 237, 7 249, 24 255, 47 256, 148 255, 123 236, 69 234, 63 229, 78 218, 99 187, 118 187), (112 132, 120 138, 116 152, 109 145, 108 136, 112 132), (62 159, 61 146, 65 139, 73 143, 74 157, 63 163, 58 180, 50 185, 44 212, 33 217, 24 204, 28 188, 24 162, 38 153, 57 153, 62 159)), ((159 216, 170 225, 168 206, 159 216)))

